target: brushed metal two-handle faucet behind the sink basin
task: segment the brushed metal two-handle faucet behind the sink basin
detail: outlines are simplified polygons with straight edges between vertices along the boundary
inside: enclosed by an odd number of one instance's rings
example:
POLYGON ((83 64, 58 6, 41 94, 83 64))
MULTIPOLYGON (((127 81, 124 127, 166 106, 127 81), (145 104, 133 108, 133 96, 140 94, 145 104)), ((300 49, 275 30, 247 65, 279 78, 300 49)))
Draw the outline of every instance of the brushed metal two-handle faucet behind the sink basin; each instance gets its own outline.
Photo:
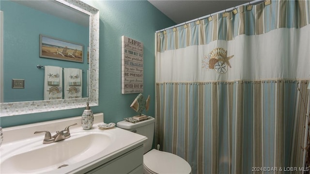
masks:
MULTIPOLYGON (((78 124, 76 123, 70 126, 76 126, 76 125, 78 124)), ((58 141, 70 138, 70 131, 69 131, 70 126, 67 126, 63 131, 56 131, 56 134, 53 136, 51 136, 49 131, 35 131, 34 134, 45 132, 43 144, 58 142, 58 141)))

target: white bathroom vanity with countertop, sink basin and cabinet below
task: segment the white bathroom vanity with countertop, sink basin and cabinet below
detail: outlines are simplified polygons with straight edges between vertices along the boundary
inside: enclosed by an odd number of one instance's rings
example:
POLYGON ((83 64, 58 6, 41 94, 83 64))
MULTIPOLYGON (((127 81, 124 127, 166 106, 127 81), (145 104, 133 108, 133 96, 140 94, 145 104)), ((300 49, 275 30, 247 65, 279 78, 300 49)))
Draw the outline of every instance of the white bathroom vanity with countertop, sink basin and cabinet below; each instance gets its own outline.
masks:
POLYGON ((98 128, 103 113, 94 114, 91 130, 83 130, 81 116, 3 129, 0 173, 48 174, 143 174, 145 136, 117 127, 98 128), (62 131, 68 125, 71 137, 43 144, 35 131, 62 131))

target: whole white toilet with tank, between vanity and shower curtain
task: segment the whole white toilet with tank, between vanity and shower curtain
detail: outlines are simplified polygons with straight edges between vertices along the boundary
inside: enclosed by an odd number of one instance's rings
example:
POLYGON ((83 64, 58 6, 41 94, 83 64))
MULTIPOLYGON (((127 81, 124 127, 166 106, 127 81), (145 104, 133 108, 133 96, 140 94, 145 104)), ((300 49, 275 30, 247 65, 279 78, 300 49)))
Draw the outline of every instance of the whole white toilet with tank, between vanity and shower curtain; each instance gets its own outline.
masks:
POLYGON ((152 149, 154 125, 155 118, 151 117, 138 123, 120 121, 116 126, 148 138, 143 144, 144 174, 191 174, 191 167, 186 160, 168 152, 152 149))

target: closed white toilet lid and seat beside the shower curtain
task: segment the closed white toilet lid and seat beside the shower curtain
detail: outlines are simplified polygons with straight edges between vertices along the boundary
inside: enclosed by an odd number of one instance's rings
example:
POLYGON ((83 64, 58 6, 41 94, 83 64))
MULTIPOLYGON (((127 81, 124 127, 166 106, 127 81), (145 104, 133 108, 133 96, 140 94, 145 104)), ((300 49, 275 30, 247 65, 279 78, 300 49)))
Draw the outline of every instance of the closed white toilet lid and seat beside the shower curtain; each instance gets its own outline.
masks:
POLYGON ((190 174, 191 167, 181 157, 152 149, 143 155, 145 170, 152 174, 190 174))

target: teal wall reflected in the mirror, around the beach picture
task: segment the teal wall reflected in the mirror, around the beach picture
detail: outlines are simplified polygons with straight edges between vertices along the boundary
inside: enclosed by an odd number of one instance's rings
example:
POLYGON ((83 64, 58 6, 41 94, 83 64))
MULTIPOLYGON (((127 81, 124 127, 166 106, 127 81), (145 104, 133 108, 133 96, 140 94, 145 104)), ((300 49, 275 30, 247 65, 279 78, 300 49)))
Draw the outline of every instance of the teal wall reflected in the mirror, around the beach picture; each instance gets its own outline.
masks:
POLYGON ((44 69, 36 65, 78 68, 83 73, 83 97, 87 96, 87 47, 89 27, 34 10, 9 0, 0 1, 3 11, 3 100, 4 102, 41 101, 44 69), (18 13, 16 13, 16 11, 18 13), (39 57, 39 35, 43 34, 84 46, 84 62, 39 57), (77 37, 78 36, 78 37, 77 37), (12 79, 25 79, 25 88, 12 88, 12 79))

